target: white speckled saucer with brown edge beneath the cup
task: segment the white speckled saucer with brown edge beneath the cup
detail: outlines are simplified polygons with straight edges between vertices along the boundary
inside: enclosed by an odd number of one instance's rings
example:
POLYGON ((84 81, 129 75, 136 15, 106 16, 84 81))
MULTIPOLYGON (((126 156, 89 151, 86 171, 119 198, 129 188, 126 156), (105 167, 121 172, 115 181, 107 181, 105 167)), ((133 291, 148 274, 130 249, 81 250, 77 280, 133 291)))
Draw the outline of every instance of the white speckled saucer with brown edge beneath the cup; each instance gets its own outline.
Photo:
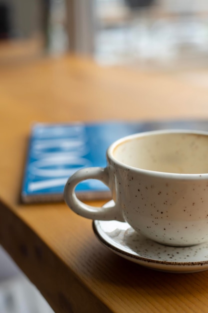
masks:
POLYGON ((128 223, 115 220, 94 220, 93 230, 110 250, 140 265, 181 273, 208 269, 208 242, 189 247, 167 246, 147 239, 128 223))

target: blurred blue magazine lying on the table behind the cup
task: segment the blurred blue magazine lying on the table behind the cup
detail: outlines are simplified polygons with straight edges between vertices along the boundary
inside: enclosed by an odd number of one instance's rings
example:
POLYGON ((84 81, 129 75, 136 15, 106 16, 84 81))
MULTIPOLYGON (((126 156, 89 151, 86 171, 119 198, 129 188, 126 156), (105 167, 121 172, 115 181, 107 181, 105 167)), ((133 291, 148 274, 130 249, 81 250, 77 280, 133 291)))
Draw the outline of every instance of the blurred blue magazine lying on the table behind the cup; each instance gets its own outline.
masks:
MULTIPOLYGON (((68 177, 83 167, 105 167, 106 150, 113 141, 137 132, 170 128, 208 130, 208 121, 35 123, 30 133, 21 200, 63 200, 68 177)), ((76 193, 81 199, 110 198, 108 187, 95 179, 79 183, 76 193)))

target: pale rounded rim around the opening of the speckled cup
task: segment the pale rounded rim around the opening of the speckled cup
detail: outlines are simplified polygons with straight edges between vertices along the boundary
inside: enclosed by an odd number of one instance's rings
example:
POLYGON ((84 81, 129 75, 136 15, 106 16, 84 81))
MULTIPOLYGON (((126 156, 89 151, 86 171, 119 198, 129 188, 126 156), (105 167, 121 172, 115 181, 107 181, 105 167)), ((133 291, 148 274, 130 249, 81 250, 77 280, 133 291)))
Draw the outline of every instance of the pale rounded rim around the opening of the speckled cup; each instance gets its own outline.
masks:
POLYGON ((134 139, 137 137, 144 137, 149 135, 156 135, 156 134, 169 134, 169 133, 187 133, 187 134, 199 134, 199 135, 206 135, 208 136, 208 131, 206 130, 195 130, 195 129, 161 129, 161 130, 150 130, 144 132, 134 133, 128 136, 124 136, 116 141, 114 141, 107 149, 106 156, 109 163, 113 163, 118 165, 119 167, 126 169, 126 170, 134 170, 135 172, 142 173, 145 175, 151 176, 160 176, 166 178, 180 178, 180 179, 207 179, 208 173, 172 173, 172 172, 163 172, 163 171, 156 171, 150 169, 143 169, 139 167, 134 167, 128 164, 125 164, 119 160, 117 160, 114 155, 114 149, 121 143, 128 141, 130 139, 134 139))

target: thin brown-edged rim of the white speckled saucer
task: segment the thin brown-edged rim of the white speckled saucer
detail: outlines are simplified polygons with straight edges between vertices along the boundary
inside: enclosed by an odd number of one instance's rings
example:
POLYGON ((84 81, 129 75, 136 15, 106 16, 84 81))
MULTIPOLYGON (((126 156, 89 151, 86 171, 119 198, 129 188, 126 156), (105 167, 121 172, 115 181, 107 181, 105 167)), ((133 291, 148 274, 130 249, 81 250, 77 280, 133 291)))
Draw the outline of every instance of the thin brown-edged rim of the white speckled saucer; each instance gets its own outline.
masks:
MULTIPOLYGON (((127 256, 130 259, 133 258, 135 260, 140 260, 142 262, 155 263, 155 264, 161 264, 161 265, 172 265, 172 266, 194 266, 194 267, 195 266, 202 266, 203 267, 203 265, 208 265, 208 260, 204 260, 204 261, 168 261, 168 260, 158 260, 158 259, 154 259, 154 258, 149 258, 149 257, 145 257, 145 256, 132 254, 132 253, 127 252, 123 249, 120 249, 119 247, 116 247, 115 245, 109 243, 105 238, 103 238, 103 236, 101 235, 101 233, 98 230, 97 224, 99 222, 101 222, 101 220, 93 220, 92 221, 92 228, 93 228, 93 231, 94 231, 95 235, 97 236, 97 238, 105 246, 107 246, 111 250, 117 252, 118 254, 122 254, 123 256, 127 256)), ((160 243, 158 243, 158 244, 160 244, 160 243)))

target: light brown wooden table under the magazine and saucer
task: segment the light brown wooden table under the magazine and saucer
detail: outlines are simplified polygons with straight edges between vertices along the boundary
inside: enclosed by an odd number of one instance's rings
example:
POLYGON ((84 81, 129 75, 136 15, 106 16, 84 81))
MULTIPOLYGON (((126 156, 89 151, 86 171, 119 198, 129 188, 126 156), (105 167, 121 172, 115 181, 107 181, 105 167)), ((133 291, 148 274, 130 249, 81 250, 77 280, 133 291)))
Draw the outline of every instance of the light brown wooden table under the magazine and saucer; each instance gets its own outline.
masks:
POLYGON ((0 243, 56 313, 208 310, 208 271, 142 267, 105 248, 64 203, 19 201, 32 122, 184 117, 208 117, 208 91, 179 75, 73 55, 0 63, 0 243))

